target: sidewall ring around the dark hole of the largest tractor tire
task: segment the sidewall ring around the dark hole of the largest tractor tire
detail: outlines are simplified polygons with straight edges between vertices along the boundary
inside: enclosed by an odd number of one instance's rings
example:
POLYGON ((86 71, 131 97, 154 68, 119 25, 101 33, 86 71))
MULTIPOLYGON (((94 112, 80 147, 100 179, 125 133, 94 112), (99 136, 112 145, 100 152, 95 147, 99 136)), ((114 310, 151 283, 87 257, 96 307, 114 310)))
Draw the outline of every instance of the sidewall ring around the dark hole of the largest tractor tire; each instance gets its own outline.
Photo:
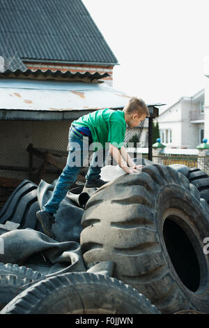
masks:
MULTIPOLYGON (((157 195, 155 201, 155 215, 156 215, 156 228, 157 234, 160 240, 160 244, 162 247, 162 254, 164 257, 164 262, 169 265, 169 270, 173 281, 178 285, 178 289, 185 295, 188 299, 189 303, 192 305, 192 308, 199 309, 201 311, 203 308, 208 308, 207 302, 208 298, 206 297, 206 293, 209 289, 208 284, 208 255, 203 253, 203 239, 207 237, 208 231, 208 221, 204 218, 203 211, 201 209, 201 204, 197 202, 197 200, 191 196, 191 194, 187 193, 185 189, 180 188, 176 185, 168 185, 164 186, 160 193, 157 195), (167 195, 166 200, 164 195, 167 195), (178 195, 178 197, 176 197, 178 195), (176 202, 173 202, 174 197, 176 197, 176 202), (187 209, 185 209, 187 207, 187 209), (183 211, 185 209, 185 212, 183 211), (190 214, 188 216, 188 213, 190 214), (180 225, 180 228, 184 230, 187 234, 187 237, 192 243, 194 251, 196 253, 196 257, 199 260, 199 266, 201 271, 201 281, 198 290, 196 292, 192 292, 189 290, 183 282, 180 280, 176 269, 173 267, 173 263, 171 262, 171 258, 167 251, 167 246, 164 241, 163 236, 163 226, 164 221, 169 218, 169 216, 178 216, 176 219, 176 223, 180 225)), ((209 234, 208 234, 209 236, 209 234)))

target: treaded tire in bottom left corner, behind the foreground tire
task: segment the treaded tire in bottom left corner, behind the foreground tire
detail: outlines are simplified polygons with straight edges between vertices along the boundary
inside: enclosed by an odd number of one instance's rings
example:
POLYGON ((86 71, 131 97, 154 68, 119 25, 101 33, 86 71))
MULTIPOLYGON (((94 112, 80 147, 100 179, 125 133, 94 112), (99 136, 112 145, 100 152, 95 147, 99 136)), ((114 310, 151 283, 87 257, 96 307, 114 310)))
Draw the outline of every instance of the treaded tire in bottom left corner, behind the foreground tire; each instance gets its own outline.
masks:
POLYGON ((0 263, 0 309, 6 306, 13 297, 42 278, 43 274, 17 264, 0 263))

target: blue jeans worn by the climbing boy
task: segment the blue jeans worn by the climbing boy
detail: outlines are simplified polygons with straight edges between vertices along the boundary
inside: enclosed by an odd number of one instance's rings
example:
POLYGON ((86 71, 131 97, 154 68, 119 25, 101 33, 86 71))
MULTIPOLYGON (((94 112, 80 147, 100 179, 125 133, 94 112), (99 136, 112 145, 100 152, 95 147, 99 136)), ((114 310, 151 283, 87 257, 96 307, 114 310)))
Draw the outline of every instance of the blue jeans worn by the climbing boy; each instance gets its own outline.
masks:
MULTIPOLYGON (((63 172, 59 176, 59 179, 56 182, 56 186, 54 187, 54 191, 52 193, 52 197, 48 200, 47 204, 43 208, 45 211, 55 214, 59 209, 59 204, 68 193, 70 186, 77 179, 77 175, 79 170, 83 166, 84 160, 88 154, 88 148, 91 140, 88 140, 87 137, 76 137, 72 134, 71 128, 69 131, 69 152, 67 163, 63 172)), ((105 161, 105 149, 102 149, 102 165, 104 165, 105 161)), ((98 163, 98 154, 97 152, 93 153, 93 158, 91 161, 91 165, 88 167, 88 172, 86 174, 86 180, 91 180, 95 178, 99 178, 101 168, 98 163)), ((99 163, 98 163, 99 164, 99 163)), ((101 166, 102 166, 101 165, 101 166)))

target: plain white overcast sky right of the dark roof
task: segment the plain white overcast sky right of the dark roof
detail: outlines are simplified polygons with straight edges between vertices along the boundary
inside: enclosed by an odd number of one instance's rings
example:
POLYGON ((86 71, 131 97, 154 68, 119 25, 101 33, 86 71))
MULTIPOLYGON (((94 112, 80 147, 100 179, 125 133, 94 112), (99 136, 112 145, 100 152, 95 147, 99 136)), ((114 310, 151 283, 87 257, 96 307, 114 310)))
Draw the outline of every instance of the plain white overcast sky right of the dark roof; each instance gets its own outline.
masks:
POLYGON ((204 88, 209 0, 83 0, 114 52, 116 89, 175 103, 204 88))

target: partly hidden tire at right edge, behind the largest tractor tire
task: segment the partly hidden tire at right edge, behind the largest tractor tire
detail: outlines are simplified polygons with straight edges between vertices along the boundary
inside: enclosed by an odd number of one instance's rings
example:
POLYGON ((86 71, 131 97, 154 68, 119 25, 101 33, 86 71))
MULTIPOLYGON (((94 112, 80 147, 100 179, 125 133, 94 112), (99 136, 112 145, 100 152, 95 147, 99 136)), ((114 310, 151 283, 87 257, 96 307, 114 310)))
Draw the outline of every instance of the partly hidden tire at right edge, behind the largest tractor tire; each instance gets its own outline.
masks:
POLYGON ((201 198, 209 204, 209 176, 197 167, 189 167, 188 179, 194 184, 201 194, 201 198))

